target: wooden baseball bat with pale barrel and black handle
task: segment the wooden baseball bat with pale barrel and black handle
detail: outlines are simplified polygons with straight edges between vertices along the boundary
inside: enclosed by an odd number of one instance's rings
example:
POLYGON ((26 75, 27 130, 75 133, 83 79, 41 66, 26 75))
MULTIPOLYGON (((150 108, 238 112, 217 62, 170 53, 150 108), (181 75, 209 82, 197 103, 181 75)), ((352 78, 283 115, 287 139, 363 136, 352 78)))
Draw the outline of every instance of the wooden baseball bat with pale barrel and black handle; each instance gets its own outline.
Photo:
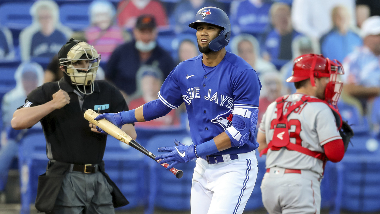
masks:
MULTIPOLYGON (((142 147, 142 145, 140 145, 138 142, 133 140, 128 134, 123 132, 123 130, 121 130, 119 127, 117 127, 116 125, 114 125, 113 123, 111 123, 110 121, 108 121, 106 119, 95 120, 94 118, 97 117, 98 115, 99 114, 94 112, 92 109, 89 109, 86 112, 84 112, 84 118, 86 118, 86 120, 90 121, 94 125, 103 129, 103 131, 110 134, 112 137, 115 137, 119 141, 130 145, 131 147, 139 150, 140 152, 144 153, 148 157, 155 160, 154 158, 156 156, 153 155, 152 152, 149 152, 144 147, 142 147)), ((160 160, 155 160, 155 161, 158 162, 160 160)), ((165 168, 168 168, 168 166, 169 166, 169 164, 167 164, 167 163, 162 163, 161 165, 165 168)), ((184 175, 184 172, 182 170, 178 170, 176 168, 171 168, 169 170, 171 172, 173 172, 173 174, 175 174, 177 178, 181 178, 184 175)))

